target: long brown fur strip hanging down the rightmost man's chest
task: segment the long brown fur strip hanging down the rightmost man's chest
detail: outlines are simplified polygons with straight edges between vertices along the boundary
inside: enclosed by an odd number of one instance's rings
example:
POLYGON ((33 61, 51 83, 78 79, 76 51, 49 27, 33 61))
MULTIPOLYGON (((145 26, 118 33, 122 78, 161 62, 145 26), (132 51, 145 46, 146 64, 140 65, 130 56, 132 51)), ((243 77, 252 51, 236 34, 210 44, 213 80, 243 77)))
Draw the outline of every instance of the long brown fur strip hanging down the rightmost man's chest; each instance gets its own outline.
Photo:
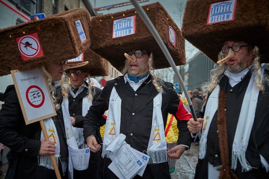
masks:
POLYGON ((226 93, 220 89, 218 94, 218 138, 222 167, 218 169, 219 179, 237 179, 229 166, 229 151, 226 126, 226 93))

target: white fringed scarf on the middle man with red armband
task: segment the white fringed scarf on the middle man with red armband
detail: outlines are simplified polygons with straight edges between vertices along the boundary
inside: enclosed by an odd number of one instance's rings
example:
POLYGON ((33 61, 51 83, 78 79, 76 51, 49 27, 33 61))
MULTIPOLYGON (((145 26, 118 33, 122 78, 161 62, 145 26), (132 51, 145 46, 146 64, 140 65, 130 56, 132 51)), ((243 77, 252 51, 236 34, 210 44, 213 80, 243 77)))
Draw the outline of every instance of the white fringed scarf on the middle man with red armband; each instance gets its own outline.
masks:
MULTIPOLYGON (((147 154, 150 156, 149 163, 167 162, 167 146, 164 135, 164 121, 161 112, 162 93, 153 99, 152 127, 150 132, 147 154)), ((113 87, 109 109, 105 123, 103 151, 120 134, 121 99, 115 87, 113 87)), ((109 153, 105 155, 109 157, 109 153)))

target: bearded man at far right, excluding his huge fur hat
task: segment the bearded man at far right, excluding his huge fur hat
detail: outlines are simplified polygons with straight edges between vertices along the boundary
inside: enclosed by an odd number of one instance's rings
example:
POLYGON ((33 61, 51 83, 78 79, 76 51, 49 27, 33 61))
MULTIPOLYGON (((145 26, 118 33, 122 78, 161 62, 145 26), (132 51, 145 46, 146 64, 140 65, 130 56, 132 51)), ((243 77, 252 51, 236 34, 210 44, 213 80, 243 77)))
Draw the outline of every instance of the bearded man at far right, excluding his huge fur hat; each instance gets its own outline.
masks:
POLYGON ((233 172, 240 178, 245 175, 257 175, 257 173, 258 176, 265 177, 268 175, 269 165, 265 159, 267 153, 263 152, 267 138, 262 133, 268 132, 263 130, 264 126, 268 125, 267 120, 264 120, 268 106, 265 106, 268 95, 264 95, 268 92, 268 71, 260 65, 257 46, 253 47, 243 41, 226 41, 219 57, 226 58, 229 53, 234 53, 234 57, 227 60, 225 65, 216 65, 211 77, 215 80, 203 85, 203 90, 209 92, 208 102, 201 116, 204 119, 199 118, 198 122, 190 119, 188 122, 191 133, 197 133, 201 128, 203 131, 196 177, 203 178, 208 175, 210 178, 219 175, 217 169, 222 167, 223 161, 219 157, 222 147, 219 146, 221 143, 218 142, 218 135, 223 136, 225 133, 228 139, 227 154, 236 159, 230 162, 233 172), (219 74, 222 75, 218 77, 219 74), (226 98, 226 105, 223 103, 218 106, 218 100, 219 103, 223 102, 223 98, 226 98), (225 121, 221 108, 224 115, 226 111, 227 130, 225 130, 226 126, 221 124, 225 121), (254 115, 255 111, 256 115, 254 115), (252 126, 255 128, 252 129, 252 126), (255 131, 260 131, 259 129, 263 132, 256 132, 256 139, 253 139, 252 136, 255 131), (245 137, 244 133, 248 135, 245 137), (237 157, 240 160, 237 161, 237 157), (260 160, 258 166, 255 162, 257 159, 260 160))

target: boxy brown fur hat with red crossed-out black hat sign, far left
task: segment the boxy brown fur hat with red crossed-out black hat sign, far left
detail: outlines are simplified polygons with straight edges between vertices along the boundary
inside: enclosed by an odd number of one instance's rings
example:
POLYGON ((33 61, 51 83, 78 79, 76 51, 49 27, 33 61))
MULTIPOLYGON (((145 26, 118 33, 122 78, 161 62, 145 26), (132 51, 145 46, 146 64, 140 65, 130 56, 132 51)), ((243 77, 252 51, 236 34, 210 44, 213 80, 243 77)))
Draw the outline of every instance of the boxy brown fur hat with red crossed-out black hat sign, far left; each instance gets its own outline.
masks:
POLYGON ((0 76, 79 56, 90 47, 89 22, 86 9, 73 9, 0 30, 0 76), (85 41, 76 26, 83 28, 85 41))

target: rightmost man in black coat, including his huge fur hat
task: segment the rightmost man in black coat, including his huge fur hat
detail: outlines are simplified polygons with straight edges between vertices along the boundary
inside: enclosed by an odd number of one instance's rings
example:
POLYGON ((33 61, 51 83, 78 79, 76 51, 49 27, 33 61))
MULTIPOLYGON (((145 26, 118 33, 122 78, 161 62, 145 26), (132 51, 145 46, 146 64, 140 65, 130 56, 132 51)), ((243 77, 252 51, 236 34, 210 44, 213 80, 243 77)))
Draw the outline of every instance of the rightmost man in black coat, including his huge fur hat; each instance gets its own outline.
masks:
POLYGON ((268 2, 256 2, 206 0, 186 5, 183 37, 216 63, 202 86, 208 92, 203 114, 198 116, 202 118, 188 122, 195 141, 199 140, 196 133, 202 133, 195 178, 269 177, 269 78, 261 66, 268 60, 268 21, 262 15, 268 9, 259 8, 268 2), (194 4, 207 20, 188 24, 195 16, 194 4), (248 11, 246 4, 252 7, 248 11), (232 13, 232 18, 215 18, 217 7, 232 13), (199 31, 192 31, 196 28, 199 31))

